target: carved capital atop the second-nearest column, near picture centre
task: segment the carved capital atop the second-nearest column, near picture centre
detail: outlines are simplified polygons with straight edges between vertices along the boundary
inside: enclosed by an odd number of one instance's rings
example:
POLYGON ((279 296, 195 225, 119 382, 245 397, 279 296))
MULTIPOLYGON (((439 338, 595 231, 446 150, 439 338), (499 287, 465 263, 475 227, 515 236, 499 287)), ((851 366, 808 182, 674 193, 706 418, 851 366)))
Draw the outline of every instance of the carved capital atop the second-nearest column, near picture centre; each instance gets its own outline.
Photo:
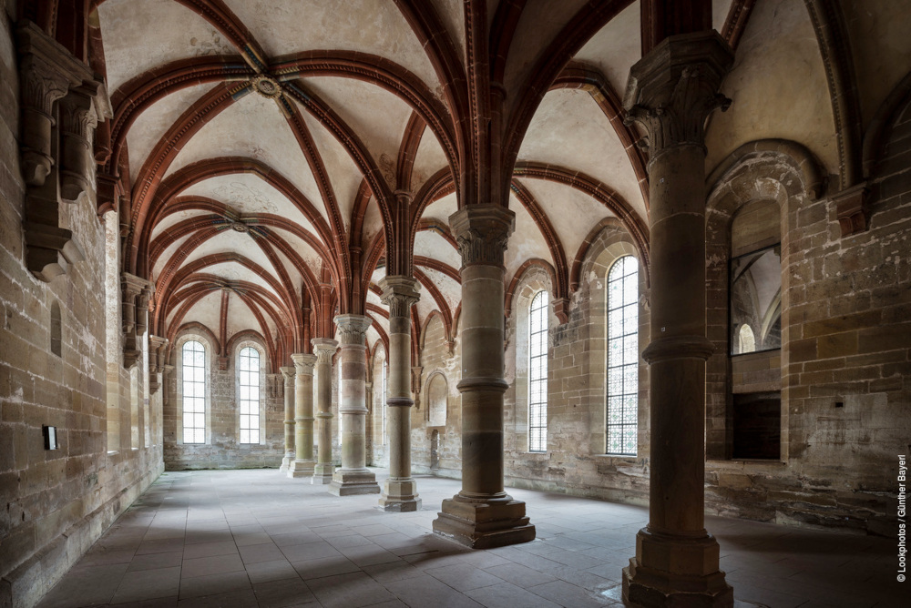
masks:
POLYGON ((499 205, 466 205, 449 216, 462 266, 503 266, 507 240, 516 228, 516 214, 499 205))

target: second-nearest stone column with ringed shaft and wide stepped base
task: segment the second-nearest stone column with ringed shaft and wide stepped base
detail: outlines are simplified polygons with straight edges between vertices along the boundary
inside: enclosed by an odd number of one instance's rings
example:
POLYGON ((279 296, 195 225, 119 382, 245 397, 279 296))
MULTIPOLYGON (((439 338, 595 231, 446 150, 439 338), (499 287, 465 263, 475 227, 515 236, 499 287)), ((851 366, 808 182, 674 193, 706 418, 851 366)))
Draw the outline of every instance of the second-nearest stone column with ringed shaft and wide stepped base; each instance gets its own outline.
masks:
POLYGON ((503 252, 516 214, 466 205, 449 218, 462 255, 462 490, 434 532, 476 549, 535 538, 525 502, 503 489, 503 252))

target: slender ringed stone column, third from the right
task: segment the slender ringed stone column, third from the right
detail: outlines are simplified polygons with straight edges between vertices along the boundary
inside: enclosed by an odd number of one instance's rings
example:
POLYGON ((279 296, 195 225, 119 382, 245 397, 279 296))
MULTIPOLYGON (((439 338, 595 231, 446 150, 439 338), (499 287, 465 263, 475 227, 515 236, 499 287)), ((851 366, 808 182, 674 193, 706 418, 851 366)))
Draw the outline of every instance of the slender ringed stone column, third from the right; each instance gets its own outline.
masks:
POLYGON ((417 511, 421 499, 411 477, 411 307, 420 285, 403 276, 380 279, 383 303, 389 306, 389 376, 386 402, 389 433, 389 479, 380 506, 385 511, 417 511))

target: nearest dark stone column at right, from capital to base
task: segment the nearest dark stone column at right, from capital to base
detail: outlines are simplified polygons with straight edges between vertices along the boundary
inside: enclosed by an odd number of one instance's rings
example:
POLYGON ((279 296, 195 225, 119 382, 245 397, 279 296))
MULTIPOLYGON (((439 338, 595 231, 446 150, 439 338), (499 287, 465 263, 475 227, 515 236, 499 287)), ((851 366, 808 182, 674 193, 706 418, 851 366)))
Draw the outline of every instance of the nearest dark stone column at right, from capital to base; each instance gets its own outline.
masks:
POLYGON ((733 54, 716 32, 670 36, 630 69, 624 107, 650 145, 649 525, 623 570, 642 606, 732 606, 718 542, 704 528, 705 118, 733 54))

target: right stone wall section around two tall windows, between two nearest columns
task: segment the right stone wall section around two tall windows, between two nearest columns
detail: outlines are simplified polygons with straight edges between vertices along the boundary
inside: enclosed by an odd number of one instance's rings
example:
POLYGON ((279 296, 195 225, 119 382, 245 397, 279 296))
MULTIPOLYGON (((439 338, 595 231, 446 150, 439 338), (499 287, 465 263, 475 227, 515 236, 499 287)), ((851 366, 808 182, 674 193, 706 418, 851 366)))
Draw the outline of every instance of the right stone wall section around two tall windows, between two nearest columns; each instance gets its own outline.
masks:
MULTIPOLYGON (((637 256, 619 226, 594 239, 569 308, 568 323, 551 310, 548 344, 548 451, 528 451, 527 309, 548 273, 529 269, 520 280, 507 322, 507 483, 548 491, 645 504, 648 501, 648 368, 640 360, 640 432, 636 456, 610 456, 605 437, 607 276, 624 255, 637 256)), ((639 344, 648 344, 646 273, 640 268, 639 344)), ((551 291, 552 295, 552 291, 551 291)))

